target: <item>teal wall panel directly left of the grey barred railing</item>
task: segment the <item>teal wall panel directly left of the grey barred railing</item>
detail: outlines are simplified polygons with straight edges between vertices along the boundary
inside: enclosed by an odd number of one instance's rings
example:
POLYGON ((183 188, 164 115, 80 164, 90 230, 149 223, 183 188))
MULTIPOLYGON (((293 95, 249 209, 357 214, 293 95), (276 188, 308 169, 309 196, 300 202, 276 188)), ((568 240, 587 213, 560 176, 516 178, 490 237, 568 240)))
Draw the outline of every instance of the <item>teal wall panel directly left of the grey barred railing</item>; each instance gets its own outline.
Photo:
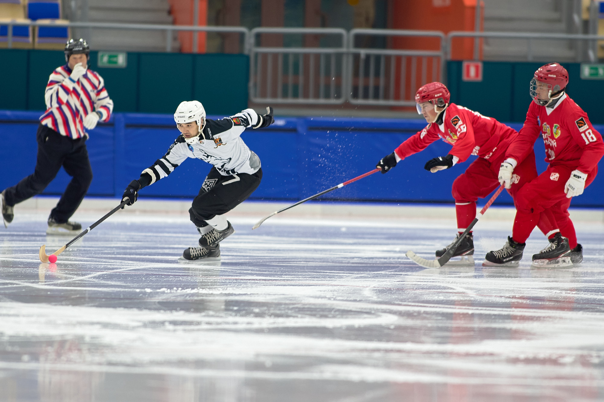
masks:
POLYGON ((193 77, 193 98, 208 115, 233 115, 248 107, 248 56, 196 55, 193 77))

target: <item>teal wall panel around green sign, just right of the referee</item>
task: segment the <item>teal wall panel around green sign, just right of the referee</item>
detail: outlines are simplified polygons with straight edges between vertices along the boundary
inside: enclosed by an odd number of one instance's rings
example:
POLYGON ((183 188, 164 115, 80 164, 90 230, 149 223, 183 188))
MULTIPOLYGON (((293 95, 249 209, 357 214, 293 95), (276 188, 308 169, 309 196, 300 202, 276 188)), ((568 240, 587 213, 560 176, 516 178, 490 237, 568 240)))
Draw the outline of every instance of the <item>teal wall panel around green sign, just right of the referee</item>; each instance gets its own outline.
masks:
POLYGON ((126 68, 99 68, 98 52, 90 53, 90 68, 105 81, 114 112, 138 112, 138 53, 128 53, 126 68))

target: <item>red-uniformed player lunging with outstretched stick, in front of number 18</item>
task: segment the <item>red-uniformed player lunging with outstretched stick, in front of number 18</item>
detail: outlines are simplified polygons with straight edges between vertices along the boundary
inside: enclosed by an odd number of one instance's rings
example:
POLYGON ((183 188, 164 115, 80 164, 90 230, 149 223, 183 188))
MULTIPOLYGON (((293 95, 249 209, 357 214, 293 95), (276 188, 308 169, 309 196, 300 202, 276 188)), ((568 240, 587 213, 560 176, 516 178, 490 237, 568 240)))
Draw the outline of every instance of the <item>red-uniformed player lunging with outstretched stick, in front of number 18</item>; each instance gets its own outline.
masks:
MULTIPOLYGON (((506 155, 507 147, 518 133, 493 118, 449 103, 450 98, 449 90, 440 82, 422 86, 416 93, 417 112, 424 116, 428 126, 400 144, 393 153, 382 158, 376 167, 381 168, 382 173, 386 173, 396 166, 397 162, 420 152, 437 139, 442 139, 453 147, 448 155, 431 159, 426 163, 424 168, 432 173, 448 169, 458 162, 464 162, 470 155, 478 155, 465 173, 457 177, 453 183, 452 194, 455 199, 457 236, 459 236, 476 217, 478 198, 488 196, 499 186, 497 174, 501 162, 506 155)), ((534 153, 527 152, 518 160, 520 163, 514 171, 512 184, 508 187, 508 192, 513 198, 524 183, 537 177, 534 153)), ((553 229, 550 227, 550 220, 546 218, 547 214, 548 212, 544 213, 544 219, 539 223, 539 228, 545 234, 553 229)), ((442 257, 452 244, 445 249, 437 250, 436 257, 442 257)), ((460 256, 461 261, 455 261, 453 264, 474 264, 472 232, 467 234, 455 250, 453 257, 460 256)))

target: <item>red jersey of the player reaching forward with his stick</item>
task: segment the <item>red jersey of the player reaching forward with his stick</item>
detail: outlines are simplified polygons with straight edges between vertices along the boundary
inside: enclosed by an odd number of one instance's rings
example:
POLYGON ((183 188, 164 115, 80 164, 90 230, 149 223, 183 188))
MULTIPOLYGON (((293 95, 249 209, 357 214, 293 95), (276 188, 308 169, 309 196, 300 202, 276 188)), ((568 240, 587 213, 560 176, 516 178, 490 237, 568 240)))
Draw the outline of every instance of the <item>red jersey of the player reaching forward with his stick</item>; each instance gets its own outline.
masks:
POLYGON ((457 156, 459 162, 465 161, 470 155, 496 159, 506 152, 517 135, 516 130, 493 118, 451 103, 444 112, 443 124, 428 124, 425 129, 406 139, 394 152, 400 159, 405 159, 440 138, 453 145, 449 154, 457 156))

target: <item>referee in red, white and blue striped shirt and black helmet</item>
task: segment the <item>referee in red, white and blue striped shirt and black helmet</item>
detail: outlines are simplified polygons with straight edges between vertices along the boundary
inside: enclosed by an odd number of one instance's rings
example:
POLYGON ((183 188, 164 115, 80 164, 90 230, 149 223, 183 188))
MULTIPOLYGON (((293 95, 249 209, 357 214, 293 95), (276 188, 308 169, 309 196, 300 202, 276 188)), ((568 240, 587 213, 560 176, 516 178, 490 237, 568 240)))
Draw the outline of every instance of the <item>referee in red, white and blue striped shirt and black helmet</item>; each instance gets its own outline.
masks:
POLYGON ((13 222, 13 206, 42 193, 61 167, 72 177, 57 206, 48 217, 47 234, 77 234, 82 225, 69 222, 92 182, 86 150, 88 133, 97 122, 109 121, 113 101, 101 76, 88 69, 90 48, 85 40, 65 45, 66 65, 53 71, 44 99, 47 110, 40 116, 36 133, 37 161, 34 173, 0 195, 4 226, 13 222))

